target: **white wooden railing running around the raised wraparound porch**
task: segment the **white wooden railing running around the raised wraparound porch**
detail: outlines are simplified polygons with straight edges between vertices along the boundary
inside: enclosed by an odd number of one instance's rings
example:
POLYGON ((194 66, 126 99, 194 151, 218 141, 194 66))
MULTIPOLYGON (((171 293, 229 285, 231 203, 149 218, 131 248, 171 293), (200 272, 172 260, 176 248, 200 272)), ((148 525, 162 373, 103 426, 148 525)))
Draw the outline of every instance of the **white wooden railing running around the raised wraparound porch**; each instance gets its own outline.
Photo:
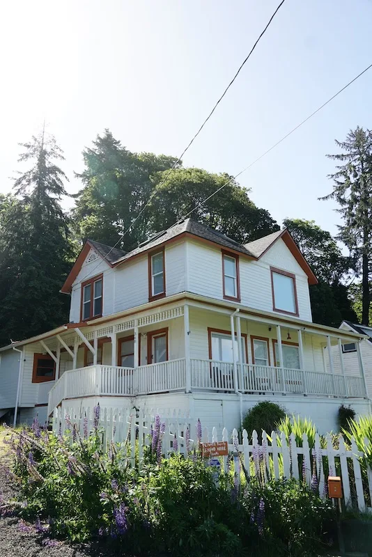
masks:
MULTIPOLYGON (((364 397, 364 382, 357 375, 332 375, 327 372, 293 370, 273 366, 237 364, 236 380, 232 363, 215 360, 190 360, 193 391, 224 393, 288 393, 336 397, 364 397), (235 384, 236 382, 236 384, 235 384)), ((152 363, 138 368, 89 366, 63 373, 49 391, 48 412, 62 400, 83 396, 133 396, 185 391, 184 358, 152 363)))

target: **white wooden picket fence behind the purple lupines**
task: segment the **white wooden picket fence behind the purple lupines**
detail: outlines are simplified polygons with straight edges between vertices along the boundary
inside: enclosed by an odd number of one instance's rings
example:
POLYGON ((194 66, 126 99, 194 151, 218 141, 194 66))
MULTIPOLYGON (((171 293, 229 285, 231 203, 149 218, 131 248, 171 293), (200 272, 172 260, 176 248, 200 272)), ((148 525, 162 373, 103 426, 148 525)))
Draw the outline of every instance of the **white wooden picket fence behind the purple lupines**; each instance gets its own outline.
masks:
MULTIPOLYGON (((198 420, 181 411, 146 410, 134 411, 120 408, 100 408, 98 428, 102 432, 102 446, 109 449, 111 441, 127 443, 130 464, 141 468, 144 446, 150 444, 151 426, 156 416, 164 424, 162 435, 162 455, 169 457, 173 452, 183 455, 200 449, 201 442, 227 441, 228 456, 220 457, 222 469, 228 471, 233 466, 235 481, 240 483, 242 475, 246 478, 259 476, 262 482, 272 478, 290 478, 304 480, 311 487, 317 487, 320 496, 327 497, 328 476, 341 476, 343 502, 346 506, 358 508, 365 512, 372 507, 372 470, 364 453, 358 450, 355 439, 346 443, 340 435, 338 447, 330 434, 320 438, 316 434, 313 448, 309 447, 307 434, 302 435, 302 446, 298 446, 295 434, 290 434, 289 443, 286 435, 272 432, 270 436, 262 432, 261 442, 256 431, 251 439, 246 430, 239 435, 236 429, 230 434, 226 427, 221 434, 217 428, 201 427, 201 439, 198 438, 198 420), (187 430, 189 435, 187 439, 187 430), (137 446, 137 452, 136 452, 137 446), (175 450, 176 448, 176 450, 175 450), (314 485, 316 484, 316 485, 314 485)), ((61 407, 54 409, 52 428, 56 434, 64 434, 70 427, 76 427, 84 436, 84 418, 88 432, 93 432, 93 407, 75 408, 62 412, 61 407)), ((199 425, 200 431, 200 425, 199 425)), ((199 433, 200 434, 200 433, 199 433)), ((365 439, 364 443, 368 445, 365 439)), ((208 460, 206 461, 208 464, 208 460)))

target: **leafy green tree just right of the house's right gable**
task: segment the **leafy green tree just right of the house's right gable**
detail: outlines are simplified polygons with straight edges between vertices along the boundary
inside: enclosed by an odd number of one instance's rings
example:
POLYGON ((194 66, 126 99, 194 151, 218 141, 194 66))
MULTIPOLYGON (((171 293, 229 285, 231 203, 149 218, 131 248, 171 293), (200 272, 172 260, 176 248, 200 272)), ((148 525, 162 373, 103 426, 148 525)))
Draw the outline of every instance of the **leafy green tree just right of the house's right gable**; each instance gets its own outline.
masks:
POLYGON ((352 299, 341 282, 354 268, 353 260, 343 256, 336 240, 314 221, 285 219, 283 224, 319 281, 310 286, 313 321, 330 327, 339 327, 344 319, 355 321, 352 299))

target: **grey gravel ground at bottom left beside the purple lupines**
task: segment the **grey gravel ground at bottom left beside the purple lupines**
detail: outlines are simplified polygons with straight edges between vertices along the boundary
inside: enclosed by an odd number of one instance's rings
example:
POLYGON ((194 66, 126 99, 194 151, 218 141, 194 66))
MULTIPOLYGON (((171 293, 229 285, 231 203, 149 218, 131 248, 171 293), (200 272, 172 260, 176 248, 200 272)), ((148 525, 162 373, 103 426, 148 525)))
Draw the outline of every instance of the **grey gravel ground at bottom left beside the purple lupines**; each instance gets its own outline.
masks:
MULTIPOLYGON (((8 478, 10 457, 3 444, 6 431, 0 430, 0 494, 6 501, 15 495, 15 484, 8 478)), ((113 557, 102 545, 67 544, 56 540, 45 540, 17 517, 0 517, 0 556, 3 557, 113 557), (46 542, 46 544, 45 544, 46 542)), ((120 554, 125 557, 124 554, 120 554)), ((129 557, 129 556, 127 556, 129 557)), ((140 556, 138 556, 140 557, 140 556)))

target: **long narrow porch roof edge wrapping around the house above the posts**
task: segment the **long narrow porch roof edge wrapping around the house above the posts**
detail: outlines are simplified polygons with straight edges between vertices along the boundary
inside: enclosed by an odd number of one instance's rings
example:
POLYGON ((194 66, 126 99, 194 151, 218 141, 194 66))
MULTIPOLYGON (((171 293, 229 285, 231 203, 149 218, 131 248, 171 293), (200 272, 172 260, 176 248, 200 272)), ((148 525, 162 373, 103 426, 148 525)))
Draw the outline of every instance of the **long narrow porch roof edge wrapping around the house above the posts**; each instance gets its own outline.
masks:
POLYGON ((10 345, 4 346, 0 348, 0 352, 4 350, 9 350, 13 347, 19 347, 26 344, 37 343, 40 340, 45 340, 46 338, 50 338, 56 336, 57 334, 62 334, 67 331, 73 331, 75 328, 82 329, 83 327, 89 327, 89 331, 93 330, 94 327, 102 327, 102 324, 118 324, 119 322, 123 322, 125 317, 131 317, 131 321, 134 319, 134 315, 138 313, 144 313, 151 310, 151 313, 158 313, 163 311, 164 306, 169 306, 171 304, 176 304, 179 306, 179 302, 183 304, 190 304, 195 307, 199 307, 201 309, 211 309, 214 308, 215 311, 221 310, 222 313, 226 315, 231 315, 233 311, 239 309, 240 316, 244 317, 245 319, 249 320, 249 317, 252 317, 254 320, 262 319, 263 322, 270 321, 271 324, 283 324, 284 327, 290 327, 295 329, 302 329, 304 331, 308 331, 311 333, 313 331, 314 334, 324 334, 325 336, 336 336, 339 338, 343 338, 344 340, 359 340, 361 338, 369 338, 368 335, 359 333, 357 331, 346 331, 343 329, 337 329, 336 327, 327 327, 327 325, 321 325, 318 323, 313 323, 310 321, 300 320, 295 317, 282 317, 276 315, 274 313, 270 313, 268 311, 261 311, 255 308, 249 308, 247 306, 243 306, 242 304, 234 304, 233 302, 229 302, 226 300, 217 300, 215 298, 209 298, 206 296, 201 296, 197 294, 192 294, 190 292, 181 292, 180 294, 176 294, 173 296, 166 297, 162 302, 153 301, 148 302, 146 304, 141 304, 141 306, 136 306, 134 308, 129 308, 127 310, 113 313, 106 317, 100 317, 99 319, 91 320, 84 323, 68 323, 63 324, 61 327, 57 327, 56 329, 52 329, 51 331, 46 331, 37 336, 33 336, 31 338, 26 338, 24 340, 20 340, 19 342, 12 343, 10 345))

